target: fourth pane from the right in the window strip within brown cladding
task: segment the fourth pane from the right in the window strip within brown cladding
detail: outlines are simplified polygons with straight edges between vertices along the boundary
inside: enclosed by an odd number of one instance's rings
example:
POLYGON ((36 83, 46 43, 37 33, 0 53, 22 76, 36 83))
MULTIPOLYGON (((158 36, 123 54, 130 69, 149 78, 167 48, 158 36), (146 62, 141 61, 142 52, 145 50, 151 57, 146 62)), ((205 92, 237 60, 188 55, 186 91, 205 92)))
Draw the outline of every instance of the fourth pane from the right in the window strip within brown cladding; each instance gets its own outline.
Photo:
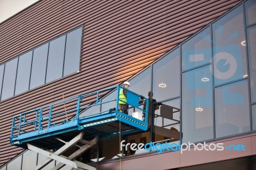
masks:
POLYGON ((33 51, 29 51, 26 54, 19 56, 15 95, 19 95, 29 88, 32 54, 33 51))

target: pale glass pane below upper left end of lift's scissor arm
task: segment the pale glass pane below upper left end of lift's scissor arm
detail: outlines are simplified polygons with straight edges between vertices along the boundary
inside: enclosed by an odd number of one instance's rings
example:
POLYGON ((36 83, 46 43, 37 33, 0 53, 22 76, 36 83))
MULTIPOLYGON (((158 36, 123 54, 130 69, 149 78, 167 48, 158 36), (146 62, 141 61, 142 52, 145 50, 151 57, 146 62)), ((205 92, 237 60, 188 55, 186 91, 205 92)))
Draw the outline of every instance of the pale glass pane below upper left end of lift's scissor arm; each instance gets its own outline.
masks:
POLYGON ((36 167, 37 153, 35 151, 27 150, 23 153, 22 170, 32 170, 36 167))

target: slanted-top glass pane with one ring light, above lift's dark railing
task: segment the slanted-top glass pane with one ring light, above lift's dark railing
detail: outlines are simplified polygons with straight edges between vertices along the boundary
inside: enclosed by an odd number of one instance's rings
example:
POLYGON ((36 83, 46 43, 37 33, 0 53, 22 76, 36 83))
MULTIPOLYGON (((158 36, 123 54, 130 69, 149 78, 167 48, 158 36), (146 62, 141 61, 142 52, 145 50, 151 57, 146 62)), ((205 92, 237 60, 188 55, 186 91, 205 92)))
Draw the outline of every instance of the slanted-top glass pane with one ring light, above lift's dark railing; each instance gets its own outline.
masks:
POLYGON ((153 97, 158 101, 180 95, 180 55, 173 50, 153 65, 153 97))

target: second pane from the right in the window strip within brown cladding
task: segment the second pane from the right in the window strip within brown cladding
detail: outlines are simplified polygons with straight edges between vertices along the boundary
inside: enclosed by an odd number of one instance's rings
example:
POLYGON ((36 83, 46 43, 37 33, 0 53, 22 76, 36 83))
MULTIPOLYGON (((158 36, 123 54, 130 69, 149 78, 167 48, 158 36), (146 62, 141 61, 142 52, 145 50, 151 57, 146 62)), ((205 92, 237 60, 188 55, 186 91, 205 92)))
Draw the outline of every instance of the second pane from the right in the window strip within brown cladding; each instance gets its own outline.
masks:
POLYGON ((66 35, 52 40, 49 45, 46 82, 62 77, 66 35))

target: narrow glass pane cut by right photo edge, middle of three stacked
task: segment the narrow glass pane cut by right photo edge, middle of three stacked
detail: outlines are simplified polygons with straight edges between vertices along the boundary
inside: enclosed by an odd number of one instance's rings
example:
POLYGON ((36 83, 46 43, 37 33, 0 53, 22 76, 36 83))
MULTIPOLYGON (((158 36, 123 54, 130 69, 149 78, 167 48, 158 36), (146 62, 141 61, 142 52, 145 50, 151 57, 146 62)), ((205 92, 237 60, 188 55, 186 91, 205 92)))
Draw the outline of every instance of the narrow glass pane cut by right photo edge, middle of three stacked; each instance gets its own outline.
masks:
POLYGON ((251 100, 252 102, 256 102, 256 26, 249 27, 247 33, 251 100))

